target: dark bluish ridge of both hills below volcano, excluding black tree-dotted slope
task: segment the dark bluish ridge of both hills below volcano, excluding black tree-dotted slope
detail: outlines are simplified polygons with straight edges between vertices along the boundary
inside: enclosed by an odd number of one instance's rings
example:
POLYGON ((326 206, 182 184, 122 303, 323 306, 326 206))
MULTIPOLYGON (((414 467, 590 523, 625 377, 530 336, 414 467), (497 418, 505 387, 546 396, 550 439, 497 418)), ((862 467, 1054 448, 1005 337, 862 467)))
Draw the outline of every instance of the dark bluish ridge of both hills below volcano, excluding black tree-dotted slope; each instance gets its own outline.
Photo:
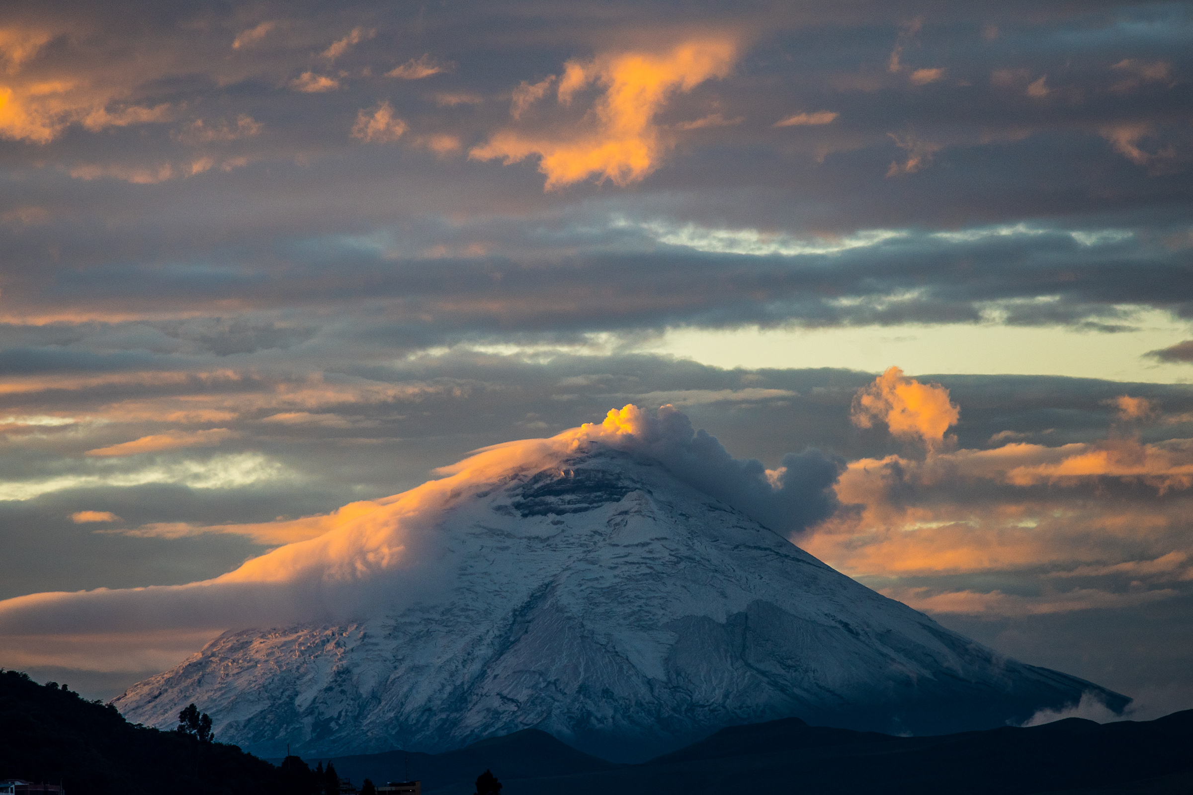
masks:
POLYGON ((1070 718, 1031 728, 937 737, 808 726, 798 718, 734 726, 636 765, 581 753, 526 729, 447 753, 333 758, 353 782, 422 781, 426 795, 471 795, 493 771, 502 795, 1189 795, 1193 710, 1154 721, 1070 718))

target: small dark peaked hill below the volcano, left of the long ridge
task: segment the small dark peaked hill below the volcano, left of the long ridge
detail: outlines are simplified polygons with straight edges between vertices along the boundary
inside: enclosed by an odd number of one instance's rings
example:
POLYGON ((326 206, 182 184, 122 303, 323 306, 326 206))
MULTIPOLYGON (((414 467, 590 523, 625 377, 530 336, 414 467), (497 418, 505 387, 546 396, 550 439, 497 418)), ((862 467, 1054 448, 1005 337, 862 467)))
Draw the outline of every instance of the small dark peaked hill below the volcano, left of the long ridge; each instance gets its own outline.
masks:
POLYGON ((422 781, 424 790, 459 784, 469 793, 472 791, 477 775, 484 770, 500 770, 497 778, 505 782, 596 772, 619 766, 576 751, 537 728, 481 740, 446 753, 388 751, 334 757, 332 763, 340 776, 351 778, 358 787, 365 778, 371 778, 375 783, 403 781, 408 763, 410 777, 422 781))

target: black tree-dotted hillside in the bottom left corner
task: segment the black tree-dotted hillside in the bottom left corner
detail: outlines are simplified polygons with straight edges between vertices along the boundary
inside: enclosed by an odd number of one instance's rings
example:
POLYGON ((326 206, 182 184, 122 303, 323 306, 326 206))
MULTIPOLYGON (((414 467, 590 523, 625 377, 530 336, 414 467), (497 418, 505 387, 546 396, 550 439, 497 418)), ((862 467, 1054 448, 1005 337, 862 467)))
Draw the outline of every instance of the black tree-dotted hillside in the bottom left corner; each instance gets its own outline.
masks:
POLYGON ((134 726, 66 685, 0 671, 0 778, 58 783, 74 795, 303 795, 288 776, 235 745, 134 726))

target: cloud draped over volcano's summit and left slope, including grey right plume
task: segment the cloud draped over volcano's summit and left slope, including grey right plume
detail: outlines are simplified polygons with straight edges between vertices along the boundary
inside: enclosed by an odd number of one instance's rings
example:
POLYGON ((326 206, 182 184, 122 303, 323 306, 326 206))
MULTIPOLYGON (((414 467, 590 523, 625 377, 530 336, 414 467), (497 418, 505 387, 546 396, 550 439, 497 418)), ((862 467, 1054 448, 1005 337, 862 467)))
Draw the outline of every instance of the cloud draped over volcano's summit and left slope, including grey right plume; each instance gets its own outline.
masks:
MULTIPOLYGON (((150 524, 130 530, 129 535, 138 538, 215 532, 239 533, 266 544, 291 541, 209 580, 5 600, 0 602, 0 636, 17 647, 43 636, 62 642, 79 635, 155 636, 344 621, 382 602, 392 609, 427 598, 451 588, 453 572, 440 565, 445 544, 440 522, 460 490, 475 491, 512 472, 551 466, 591 443, 661 462, 680 479, 769 520, 779 530, 802 530, 835 508, 829 487, 837 464, 818 452, 784 456, 780 470, 767 472, 756 460, 733 459, 706 433, 693 433, 688 418, 670 405, 643 411, 629 404, 610 410, 600 424, 586 423, 549 439, 490 446, 443 467, 441 479, 400 495, 352 503, 326 516, 240 527, 150 524), (296 536, 307 540, 292 540, 296 536)), ((72 518, 106 522, 117 517, 87 511, 72 518)), ((130 653, 152 656, 147 650, 130 653)))

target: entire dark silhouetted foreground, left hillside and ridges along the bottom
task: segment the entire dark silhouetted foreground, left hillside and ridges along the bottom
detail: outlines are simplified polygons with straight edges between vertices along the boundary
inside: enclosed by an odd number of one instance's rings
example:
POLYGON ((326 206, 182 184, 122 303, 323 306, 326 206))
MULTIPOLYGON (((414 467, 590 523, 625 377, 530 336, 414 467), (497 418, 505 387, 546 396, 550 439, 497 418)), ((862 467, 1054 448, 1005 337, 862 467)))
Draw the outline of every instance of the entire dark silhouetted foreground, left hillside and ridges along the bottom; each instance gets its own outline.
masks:
MULTIPOLYGON (((1148 722, 1070 718, 1032 728, 935 737, 808 726, 797 718, 733 726, 643 764, 582 753, 524 729, 446 753, 335 757, 358 787, 410 778, 426 795, 471 795, 484 770, 501 795, 1189 795, 1193 710, 1148 722)), ((295 764, 297 763, 297 764, 295 764)), ((115 708, 0 671, 0 780, 68 794, 311 795, 305 764, 282 769, 234 745, 134 726, 115 708)))

